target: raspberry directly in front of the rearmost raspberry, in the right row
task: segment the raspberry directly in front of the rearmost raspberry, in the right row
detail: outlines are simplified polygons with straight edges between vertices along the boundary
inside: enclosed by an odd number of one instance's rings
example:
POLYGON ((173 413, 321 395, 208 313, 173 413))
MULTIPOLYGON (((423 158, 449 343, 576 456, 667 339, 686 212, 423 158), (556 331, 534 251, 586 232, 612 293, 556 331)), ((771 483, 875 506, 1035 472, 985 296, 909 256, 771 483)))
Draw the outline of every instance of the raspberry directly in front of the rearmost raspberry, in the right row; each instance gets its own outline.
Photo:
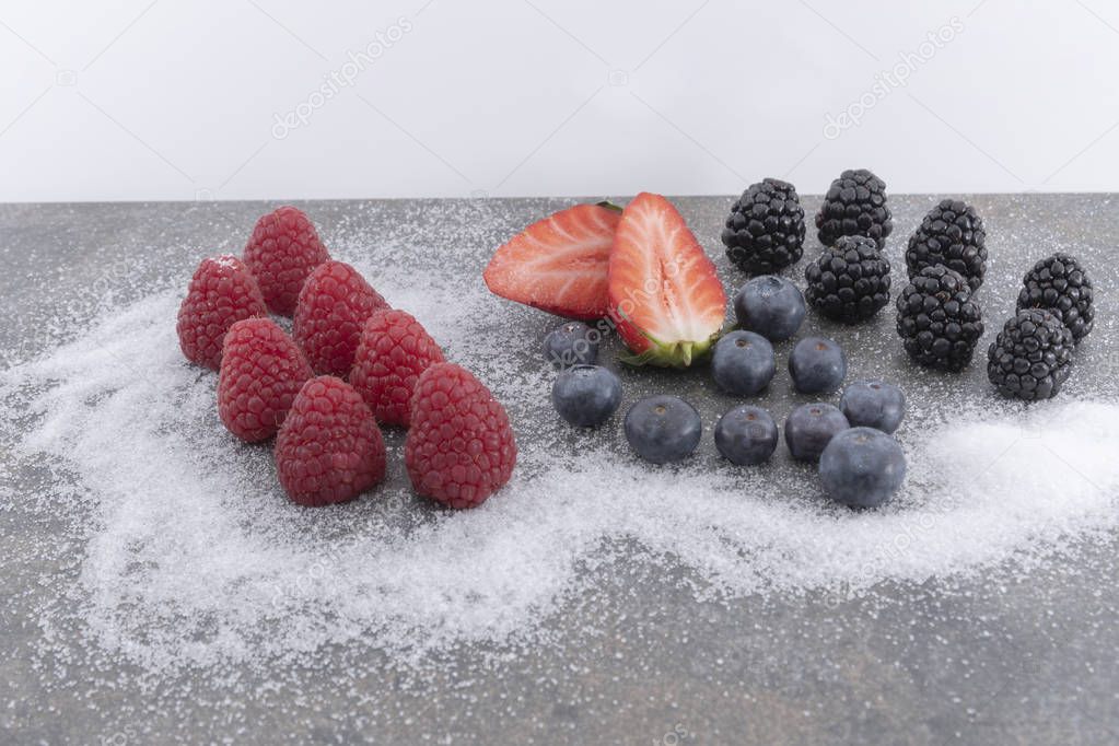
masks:
POLYGON ((357 270, 345 262, 323 262, 299 292, 292 337, 314 372, 346 376, 361 327, 374 311, 387 309, 357 270))

